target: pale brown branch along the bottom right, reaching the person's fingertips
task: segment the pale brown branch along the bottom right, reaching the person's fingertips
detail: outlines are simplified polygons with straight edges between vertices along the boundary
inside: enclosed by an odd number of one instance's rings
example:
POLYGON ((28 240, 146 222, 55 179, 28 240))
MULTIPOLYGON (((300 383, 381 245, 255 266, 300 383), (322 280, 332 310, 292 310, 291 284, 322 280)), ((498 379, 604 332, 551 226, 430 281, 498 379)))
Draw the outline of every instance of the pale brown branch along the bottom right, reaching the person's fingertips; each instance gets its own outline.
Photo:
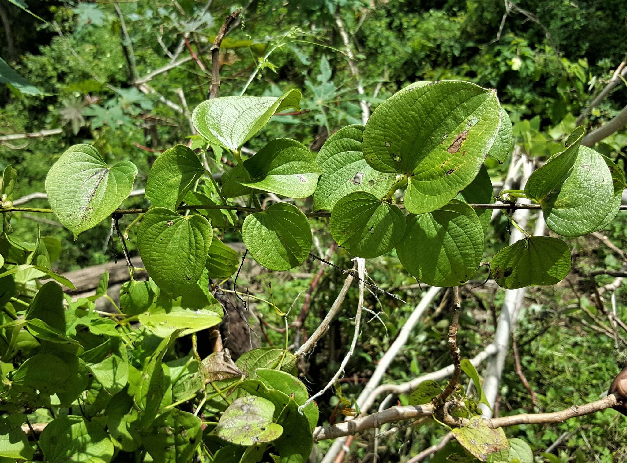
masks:
MULTIPOLYGON (((491 428, 508 427, 520 424, 549 424, 561 423, 570 418, 589 415, 594 412, 606 410, 606 408, 615 407, 622 402, 620 396, 610 394, 595 402, 586 403, 584 405, 572 405, 570 408, 559 410, 552 413, 521 413, 520 415, 510 415, 508 417, 492 418, 485 420, 486 424, 491 428)), ((446 409, 446 407, 445 407, 446 409)), ((314 440, 336 439, 346 435, 354 435, 358 432, 364 432, 369 429, 380 428, 386 423, 396 423, 403 420, 414 420, 421 417, 431 417, 433 414, 433 405, 409 405, 407 407, 392 407, 382 412, 372 413, 365 417, 355 418, 354 420, 344 421, 330 426, 319 426, 314 429, 314 440)), ((446 415, 445 423, 449 425, 464 425, 468 420, 458 420, 458 418, 446 415)))

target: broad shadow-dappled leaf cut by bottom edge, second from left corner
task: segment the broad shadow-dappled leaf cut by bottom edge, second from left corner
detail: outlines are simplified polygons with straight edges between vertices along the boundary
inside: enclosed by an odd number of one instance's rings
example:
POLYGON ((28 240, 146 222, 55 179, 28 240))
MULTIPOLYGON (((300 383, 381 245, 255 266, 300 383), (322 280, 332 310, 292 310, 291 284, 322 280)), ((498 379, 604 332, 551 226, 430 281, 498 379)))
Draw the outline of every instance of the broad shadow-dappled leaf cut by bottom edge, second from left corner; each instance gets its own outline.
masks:
POLYGON ((50 463, 108 463, 113 443, 95 421, 67 415, 48 423, 41 432, 40 446, 50 463))

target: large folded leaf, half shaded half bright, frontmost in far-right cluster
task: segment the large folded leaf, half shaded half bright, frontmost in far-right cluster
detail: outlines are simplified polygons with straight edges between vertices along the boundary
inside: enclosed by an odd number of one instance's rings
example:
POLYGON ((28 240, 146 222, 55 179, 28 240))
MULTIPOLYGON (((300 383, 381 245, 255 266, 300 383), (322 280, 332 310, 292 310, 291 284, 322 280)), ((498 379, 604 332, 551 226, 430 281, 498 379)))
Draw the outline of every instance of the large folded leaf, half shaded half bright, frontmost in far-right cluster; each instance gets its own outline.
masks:
POLYGON ((584 128, 577 127, 566 149, 537 169, 525 185, 525 194, 542 206, 551 230, 579 237, 599 230, 613 208, 612 174, 601 154, 580 146, 584 128))

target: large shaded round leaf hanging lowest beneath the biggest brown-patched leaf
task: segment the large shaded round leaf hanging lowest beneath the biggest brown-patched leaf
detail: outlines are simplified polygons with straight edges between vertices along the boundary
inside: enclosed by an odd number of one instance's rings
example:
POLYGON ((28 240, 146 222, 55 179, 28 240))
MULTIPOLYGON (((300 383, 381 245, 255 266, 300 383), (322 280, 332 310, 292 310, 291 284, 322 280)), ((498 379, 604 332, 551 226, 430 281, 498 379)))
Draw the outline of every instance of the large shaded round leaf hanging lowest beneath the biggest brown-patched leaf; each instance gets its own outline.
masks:
POLYGON ((458 286, 471 279, 481 263, 483 229, 466 203, 423 215, 408 215, 407 229, 396 246, 403 267, 432 286, 458 286))

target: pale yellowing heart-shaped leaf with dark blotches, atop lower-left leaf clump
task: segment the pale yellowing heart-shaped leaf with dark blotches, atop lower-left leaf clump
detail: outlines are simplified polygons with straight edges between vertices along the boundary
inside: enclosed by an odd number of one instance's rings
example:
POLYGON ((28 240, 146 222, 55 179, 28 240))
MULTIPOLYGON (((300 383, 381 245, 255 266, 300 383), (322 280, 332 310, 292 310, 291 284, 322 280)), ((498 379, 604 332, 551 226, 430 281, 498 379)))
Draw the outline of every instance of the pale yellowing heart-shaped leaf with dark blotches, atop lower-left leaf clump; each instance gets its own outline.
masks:
POLYGON ((224 411, 213 433, 236 445, 271 442, 283 433, 283 428, 272 422, 274 410, 274 404, 265 398, 237 398, 224 411))

